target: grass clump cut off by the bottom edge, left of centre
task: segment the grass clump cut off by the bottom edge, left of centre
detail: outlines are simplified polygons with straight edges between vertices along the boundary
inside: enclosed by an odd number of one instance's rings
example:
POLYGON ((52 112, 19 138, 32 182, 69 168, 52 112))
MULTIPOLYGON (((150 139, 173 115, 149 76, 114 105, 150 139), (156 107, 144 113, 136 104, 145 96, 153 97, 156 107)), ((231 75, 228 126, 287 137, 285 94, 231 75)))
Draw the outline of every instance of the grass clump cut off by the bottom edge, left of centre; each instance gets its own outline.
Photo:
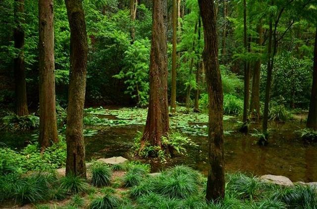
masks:
POLYGON ((90 204, 90 209, 114 209, 120 206, 120 199, 113 194, 98 197, 90 204))

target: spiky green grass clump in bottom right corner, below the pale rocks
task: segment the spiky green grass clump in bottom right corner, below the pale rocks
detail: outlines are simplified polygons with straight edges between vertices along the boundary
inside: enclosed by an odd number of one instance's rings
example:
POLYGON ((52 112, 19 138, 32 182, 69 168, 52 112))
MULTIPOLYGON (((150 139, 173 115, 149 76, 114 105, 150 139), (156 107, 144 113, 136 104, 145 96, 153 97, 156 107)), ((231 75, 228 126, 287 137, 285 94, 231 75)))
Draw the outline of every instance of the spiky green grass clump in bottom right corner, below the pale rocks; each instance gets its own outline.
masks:
POLYGON ((276 191, 272 198, 287 205, 287 208, 314 209, 317 206, 317 189, 311 186, 296 185, 276 191))

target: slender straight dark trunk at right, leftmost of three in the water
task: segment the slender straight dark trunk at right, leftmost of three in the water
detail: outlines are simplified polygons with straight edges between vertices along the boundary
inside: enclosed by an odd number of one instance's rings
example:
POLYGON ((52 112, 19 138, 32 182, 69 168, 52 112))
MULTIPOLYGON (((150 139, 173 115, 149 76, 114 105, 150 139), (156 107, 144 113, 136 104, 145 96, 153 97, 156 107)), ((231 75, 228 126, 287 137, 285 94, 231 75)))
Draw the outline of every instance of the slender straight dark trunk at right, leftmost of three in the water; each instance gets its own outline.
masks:
MULTIPOLYGON (((247 4, 246 0, 243 0, 243 45, 245 52, 248 52, 247 41, 247 4)), ((243 103, 243 118, 242 118, 242 132, 248 132, 248 111, 249 111, 249 97, 250 97, 250 68, 248 67, 248 61, 244 60, 244 103, 243 103)))

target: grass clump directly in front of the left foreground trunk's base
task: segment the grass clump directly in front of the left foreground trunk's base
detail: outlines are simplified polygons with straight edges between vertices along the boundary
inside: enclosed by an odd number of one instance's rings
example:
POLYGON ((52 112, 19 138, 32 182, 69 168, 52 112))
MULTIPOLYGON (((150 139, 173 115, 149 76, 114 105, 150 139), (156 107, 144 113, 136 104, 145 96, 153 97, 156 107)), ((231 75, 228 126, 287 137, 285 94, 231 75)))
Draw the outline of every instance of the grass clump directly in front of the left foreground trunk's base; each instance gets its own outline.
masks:
POLYGON ((61 178, 60 187, 69 194, 86 193, 89 190, 86 180, 75 175, 67 175, 61 178))

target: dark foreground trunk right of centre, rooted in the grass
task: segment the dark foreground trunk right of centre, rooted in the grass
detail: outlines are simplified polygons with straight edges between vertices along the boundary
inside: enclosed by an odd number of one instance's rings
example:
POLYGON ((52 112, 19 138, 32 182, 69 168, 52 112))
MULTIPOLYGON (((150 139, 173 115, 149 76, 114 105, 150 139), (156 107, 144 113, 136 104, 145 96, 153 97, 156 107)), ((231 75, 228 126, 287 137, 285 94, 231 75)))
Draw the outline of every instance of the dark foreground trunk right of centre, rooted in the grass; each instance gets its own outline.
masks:
POLYGON ((223 93, 218 64, 218 36, 213 0, 198 0, 204 25, 205 48, 203 59, 209 93, 209 143, 210 169, 207 181, 207 201, 224 198, 224 147, 223 147, 223 93))

